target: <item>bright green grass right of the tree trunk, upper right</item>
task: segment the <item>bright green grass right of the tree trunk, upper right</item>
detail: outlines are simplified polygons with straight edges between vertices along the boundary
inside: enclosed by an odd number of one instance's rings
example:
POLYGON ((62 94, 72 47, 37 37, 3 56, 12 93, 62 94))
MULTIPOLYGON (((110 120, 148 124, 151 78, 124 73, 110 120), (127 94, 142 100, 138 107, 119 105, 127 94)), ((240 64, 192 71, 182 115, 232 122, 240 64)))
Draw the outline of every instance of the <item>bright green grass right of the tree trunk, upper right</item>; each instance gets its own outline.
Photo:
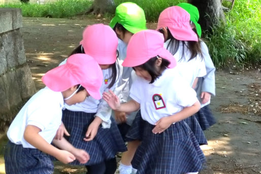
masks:
POLYGON ((236 64, 240 67, 261 63, 261 2, 236 1, 226 12, 226 23, 212 28, 205 40, 214 64, 223 67, 236 64))

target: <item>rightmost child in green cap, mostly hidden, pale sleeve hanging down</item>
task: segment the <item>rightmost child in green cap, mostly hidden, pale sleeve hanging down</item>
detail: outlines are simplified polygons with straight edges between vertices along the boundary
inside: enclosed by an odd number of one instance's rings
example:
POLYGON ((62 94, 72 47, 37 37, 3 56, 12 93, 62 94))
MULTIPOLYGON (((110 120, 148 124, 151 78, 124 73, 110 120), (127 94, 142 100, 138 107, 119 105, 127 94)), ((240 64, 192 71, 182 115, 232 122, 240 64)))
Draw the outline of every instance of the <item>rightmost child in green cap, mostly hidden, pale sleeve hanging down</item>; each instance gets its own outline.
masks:
MULTIPOLYGON (((180 3, 177 6, 183 8, 190 14, 191 28, 195 33, 201 37, 201 26, 198 23, 200 14, 197 7, 188 4, 180 3)), ((216 123, 214 116, 209 108, 211 95, 215 96, 215 66, 211 60, 208 52, 207 45, 201 40, 201 51, 204 57, 207 74, 204 77, 200 77, 198 84, 195 87, 198 99, 201 102, 201 109, 194 116, 197 118, 202 130, 208 129, 210 126, 216 123)))

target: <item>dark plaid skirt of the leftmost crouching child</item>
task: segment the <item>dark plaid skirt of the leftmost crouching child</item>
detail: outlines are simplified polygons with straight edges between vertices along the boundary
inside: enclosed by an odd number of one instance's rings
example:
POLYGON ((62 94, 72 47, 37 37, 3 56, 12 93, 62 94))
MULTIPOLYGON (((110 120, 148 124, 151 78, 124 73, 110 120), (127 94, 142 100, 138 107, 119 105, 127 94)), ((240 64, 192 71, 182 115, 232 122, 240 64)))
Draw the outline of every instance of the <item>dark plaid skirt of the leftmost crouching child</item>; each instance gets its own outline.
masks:
POLYGON ((51 174, 53 163, 50 156, 38 149, 23 148, 10 141, 5 150, 6 174, 51 174))

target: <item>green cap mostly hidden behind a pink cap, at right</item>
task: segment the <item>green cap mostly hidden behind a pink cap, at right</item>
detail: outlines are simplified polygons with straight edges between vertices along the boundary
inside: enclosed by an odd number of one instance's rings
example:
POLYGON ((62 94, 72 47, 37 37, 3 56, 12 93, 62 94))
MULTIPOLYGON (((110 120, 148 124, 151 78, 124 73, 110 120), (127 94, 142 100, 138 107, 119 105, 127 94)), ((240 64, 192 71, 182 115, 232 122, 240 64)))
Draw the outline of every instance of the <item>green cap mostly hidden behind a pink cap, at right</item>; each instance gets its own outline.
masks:
POLYGON ((200 19, 200 13, 197 7, 188 4, 188 3, 180 3, 177 6, 181 7, 182 9, 186 10, 189 15, 190 15, 190 20, 195 24, 197 33, 199 35, 199 37, 201 37, 201 26, 198 23, 199 19, 200 19))

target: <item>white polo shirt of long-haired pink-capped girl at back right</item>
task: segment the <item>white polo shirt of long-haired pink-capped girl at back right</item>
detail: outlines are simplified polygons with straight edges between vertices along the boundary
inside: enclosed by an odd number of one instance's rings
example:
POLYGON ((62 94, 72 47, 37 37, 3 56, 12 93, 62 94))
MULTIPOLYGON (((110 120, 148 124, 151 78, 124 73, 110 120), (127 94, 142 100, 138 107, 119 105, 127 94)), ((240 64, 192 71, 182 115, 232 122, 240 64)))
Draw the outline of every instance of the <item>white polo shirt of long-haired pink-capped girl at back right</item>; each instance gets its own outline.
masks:
MULTIPOLYGON (((169 42, 170 40, 164 43, 165 48, 167 48, 169 42)), ((179 50, 173 55, 177 61, 177 66, 175 68, 178 69, 178 72, 180 73, 182 78, 185 81, 187 81, 192 87, 193 82, 197 77, 203 77, 206 75, 205 61, 204 58, 200 57, 199 55, 189 60, 191 55, 189 49, 186 46, 184 46, 184 55, 183 55, 182 48, 183 45, 182 42, 180 42, 179 50)))

